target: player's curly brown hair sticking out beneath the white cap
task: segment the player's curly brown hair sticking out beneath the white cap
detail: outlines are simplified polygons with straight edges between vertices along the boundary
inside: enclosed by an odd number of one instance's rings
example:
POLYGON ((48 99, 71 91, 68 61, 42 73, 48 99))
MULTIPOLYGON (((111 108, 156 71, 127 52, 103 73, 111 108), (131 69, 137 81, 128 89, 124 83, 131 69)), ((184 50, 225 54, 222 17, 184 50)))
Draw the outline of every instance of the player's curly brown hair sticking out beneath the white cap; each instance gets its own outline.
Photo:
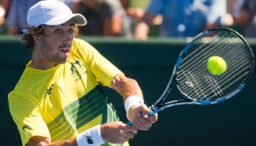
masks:
MULTIPOLYGON (((32 38, 32 35, 43 35, 45 25, 39 25, 38 27, 28 27, 26 29, 28 30, 28 33, 22 35, 22 42, 28 49, 33 49, 35 41, 32 38)), ((74 34, 75 36, 79 35, 79 29, 77 26, 74 29, 74 34)))

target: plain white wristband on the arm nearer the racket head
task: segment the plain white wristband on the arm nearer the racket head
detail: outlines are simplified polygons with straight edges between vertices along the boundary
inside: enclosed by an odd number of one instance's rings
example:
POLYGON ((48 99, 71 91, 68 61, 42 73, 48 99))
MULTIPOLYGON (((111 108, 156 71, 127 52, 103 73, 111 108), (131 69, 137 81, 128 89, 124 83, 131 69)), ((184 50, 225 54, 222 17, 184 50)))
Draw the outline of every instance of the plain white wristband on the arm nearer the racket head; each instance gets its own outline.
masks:
POLYGON ((128 97, 125 102, 124 102, 124 108, 126 111, 126 117, 128 119, 128 111, 130 108, 135 105, 135 106, 140 106, 141 104, 144 104, 143 97, 139 97, 138 95, 132 95, 128 97))

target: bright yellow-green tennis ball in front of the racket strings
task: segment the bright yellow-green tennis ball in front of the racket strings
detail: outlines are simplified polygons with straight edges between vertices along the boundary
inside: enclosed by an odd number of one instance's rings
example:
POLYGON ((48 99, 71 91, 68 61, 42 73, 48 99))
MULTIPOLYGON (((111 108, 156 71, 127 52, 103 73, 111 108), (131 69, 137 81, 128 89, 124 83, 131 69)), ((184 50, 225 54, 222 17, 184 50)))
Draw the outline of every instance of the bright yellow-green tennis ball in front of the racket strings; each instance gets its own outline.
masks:
POLYGON ((207 68, 213 75, 222 75, 227 70, 227 64, 223 58, 213 56, 208 59, 207 68))

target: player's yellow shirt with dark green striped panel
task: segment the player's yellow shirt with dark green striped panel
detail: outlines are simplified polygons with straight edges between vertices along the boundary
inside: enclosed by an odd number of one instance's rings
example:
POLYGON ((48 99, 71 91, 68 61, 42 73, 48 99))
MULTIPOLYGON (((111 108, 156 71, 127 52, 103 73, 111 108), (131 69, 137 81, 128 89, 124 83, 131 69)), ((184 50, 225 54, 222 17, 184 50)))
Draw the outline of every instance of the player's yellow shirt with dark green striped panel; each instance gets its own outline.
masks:
POLYGON ((29 64, 8 95, 23 145, 33 136, 68 140, 98 124, 119 120, 98 84, 110 86, 114 76, 123 73, 87 42, 75 38, 65 64, 47 70, 29 64))

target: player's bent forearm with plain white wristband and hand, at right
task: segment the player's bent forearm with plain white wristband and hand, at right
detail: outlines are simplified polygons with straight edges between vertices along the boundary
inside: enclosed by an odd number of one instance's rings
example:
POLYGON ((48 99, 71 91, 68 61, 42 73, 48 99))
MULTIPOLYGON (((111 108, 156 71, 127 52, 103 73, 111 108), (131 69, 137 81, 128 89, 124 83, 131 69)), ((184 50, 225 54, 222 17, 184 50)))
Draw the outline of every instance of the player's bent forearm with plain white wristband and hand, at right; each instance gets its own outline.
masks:
POLYGON ((116 75, 110 87, 120 93, 124 99, 125 108, 128 112, 128 119, 132 125, 139 130, 149 130, 154 122, 157 122, 158 115, 147 116, 150 109, 143 104, 143 93, 135 79, 128 78, 124 75, 116 75), (139 103, 140 102, 140 103, 139 103), (143 116, 141 116, 143 113, 143 116))

